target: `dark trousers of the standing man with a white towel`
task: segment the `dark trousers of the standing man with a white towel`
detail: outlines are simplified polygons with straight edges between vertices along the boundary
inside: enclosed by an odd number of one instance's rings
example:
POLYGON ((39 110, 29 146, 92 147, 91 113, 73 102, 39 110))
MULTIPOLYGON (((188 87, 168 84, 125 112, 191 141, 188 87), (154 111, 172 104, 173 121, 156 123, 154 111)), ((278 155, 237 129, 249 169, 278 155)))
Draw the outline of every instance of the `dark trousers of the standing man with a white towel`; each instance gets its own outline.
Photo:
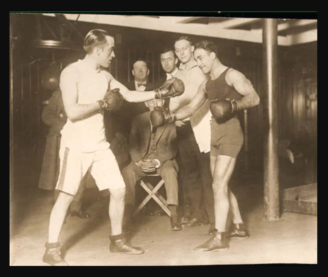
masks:
POLYGON ((210 153, 201 153, 199 151, 190 121, 187 121, 184 126, 177 127, 176 133, 180 155, 179 168, 183 201, 187 202, 189 199, 193 209, 193 218, 201 218, 201 204, 203 201, 209 221, 214 223, 210 153))

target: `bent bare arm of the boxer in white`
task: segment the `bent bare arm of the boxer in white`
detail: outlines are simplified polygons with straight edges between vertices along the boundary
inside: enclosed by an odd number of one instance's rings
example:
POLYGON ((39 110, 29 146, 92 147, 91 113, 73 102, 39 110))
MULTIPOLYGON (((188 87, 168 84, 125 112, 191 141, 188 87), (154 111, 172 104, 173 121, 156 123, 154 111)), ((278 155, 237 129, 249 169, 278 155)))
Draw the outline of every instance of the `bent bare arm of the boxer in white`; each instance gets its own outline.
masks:
MULTIPOLYGON (((60 75, 60 89, 65 112, 70 120, 77 120, 99 111, 97 102, 90 104, 78 104, 78 72, 74 67, 65 68, 60 75)), ((100 99, 99 99, 100 100, 100 99)))

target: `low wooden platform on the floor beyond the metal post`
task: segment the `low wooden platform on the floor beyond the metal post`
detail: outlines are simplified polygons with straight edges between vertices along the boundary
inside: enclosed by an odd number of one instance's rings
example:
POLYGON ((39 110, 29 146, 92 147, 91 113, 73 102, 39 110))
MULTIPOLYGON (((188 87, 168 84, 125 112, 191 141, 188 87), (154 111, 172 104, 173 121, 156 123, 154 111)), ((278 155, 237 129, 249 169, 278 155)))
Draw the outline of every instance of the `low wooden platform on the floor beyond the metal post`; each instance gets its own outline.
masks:
POLYGON ((312 183, 282 191, 283 211, 317 215, 318 184, 312 183))

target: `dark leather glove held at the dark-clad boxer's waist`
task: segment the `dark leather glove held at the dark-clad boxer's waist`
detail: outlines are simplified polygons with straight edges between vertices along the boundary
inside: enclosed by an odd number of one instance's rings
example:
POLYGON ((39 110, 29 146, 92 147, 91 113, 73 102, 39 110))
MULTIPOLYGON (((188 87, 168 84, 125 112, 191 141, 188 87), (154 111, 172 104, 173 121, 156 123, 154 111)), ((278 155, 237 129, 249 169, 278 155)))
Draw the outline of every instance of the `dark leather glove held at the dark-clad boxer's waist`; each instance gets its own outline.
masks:
POLYGON ((218 123, 223 123, 234 116, 238 106, 235 99, 218 98, 211 100, 210 110, 218 123))

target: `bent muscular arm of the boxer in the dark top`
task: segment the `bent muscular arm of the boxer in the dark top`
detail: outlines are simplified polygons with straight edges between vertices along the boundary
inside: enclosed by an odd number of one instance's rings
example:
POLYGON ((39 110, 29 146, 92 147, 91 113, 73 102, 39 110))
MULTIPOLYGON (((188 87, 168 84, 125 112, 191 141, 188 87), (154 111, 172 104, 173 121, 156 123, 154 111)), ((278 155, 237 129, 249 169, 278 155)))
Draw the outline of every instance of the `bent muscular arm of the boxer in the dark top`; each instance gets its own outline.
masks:
POLYGON ((252 83, 239 71, 235 69, 228 71, 226 82, 243 96, 243 98, 237 101, 238 110, 252 108, 260 103, 260 98, 258 97, 252 83))

